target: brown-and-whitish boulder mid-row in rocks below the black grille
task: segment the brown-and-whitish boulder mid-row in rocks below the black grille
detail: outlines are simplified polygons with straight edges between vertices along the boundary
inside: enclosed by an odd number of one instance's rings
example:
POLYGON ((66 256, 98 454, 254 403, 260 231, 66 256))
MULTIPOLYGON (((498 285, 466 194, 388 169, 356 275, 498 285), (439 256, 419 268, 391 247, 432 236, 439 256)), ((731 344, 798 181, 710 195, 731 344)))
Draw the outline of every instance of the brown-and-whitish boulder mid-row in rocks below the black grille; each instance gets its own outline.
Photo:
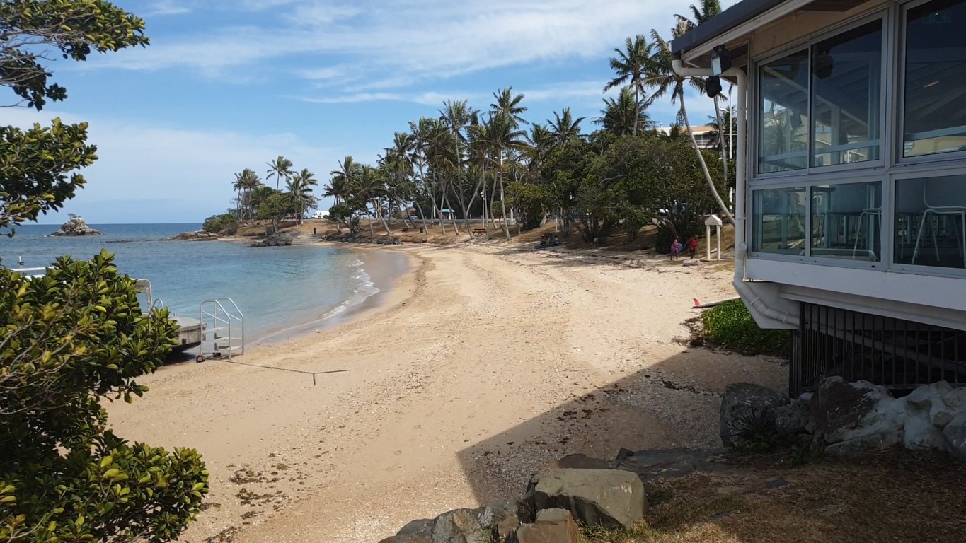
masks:
POLYGON ((841 377, 823 380, 810 401, 814 445, 838 456, 902 442, 906 404, 885 387, 841 377))

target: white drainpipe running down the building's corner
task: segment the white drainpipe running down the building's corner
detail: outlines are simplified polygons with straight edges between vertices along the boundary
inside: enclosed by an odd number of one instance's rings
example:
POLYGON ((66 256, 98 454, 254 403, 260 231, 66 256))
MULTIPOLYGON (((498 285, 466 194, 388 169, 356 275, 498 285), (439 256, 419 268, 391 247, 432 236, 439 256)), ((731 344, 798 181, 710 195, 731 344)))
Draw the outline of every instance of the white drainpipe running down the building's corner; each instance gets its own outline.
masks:
MULTIPOLYGON (((711 68, 685 67, 681 59, 674 59, 671 63, 674 73, 682 77, 711 77, 711 68)), ((735 290, 750 305, 754 311, 767 318, 784 324, 798 326, 798 315, 776 311, 769 308, 761 300, 761 296, 754 293, 745 278, 745 260, 748 258, 748 243, 745 241, 745 185, 747 183, 748 158, 748 76, 741 68, 729 68, 722 73, 725 77, 734 77, 738 82, 738 148, 735 152, 735 183, 734 183, 734 284, 735 290)))

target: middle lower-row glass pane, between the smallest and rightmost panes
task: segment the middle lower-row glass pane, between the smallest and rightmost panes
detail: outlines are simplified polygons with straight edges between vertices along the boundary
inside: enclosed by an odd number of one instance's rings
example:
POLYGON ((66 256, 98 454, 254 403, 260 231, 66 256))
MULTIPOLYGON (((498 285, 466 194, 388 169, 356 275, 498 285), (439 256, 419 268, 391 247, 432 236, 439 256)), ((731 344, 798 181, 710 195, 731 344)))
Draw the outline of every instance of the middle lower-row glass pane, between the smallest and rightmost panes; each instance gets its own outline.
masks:
POLYGON ((811 187, 811 256, 880 260, 882 183, 811 187))

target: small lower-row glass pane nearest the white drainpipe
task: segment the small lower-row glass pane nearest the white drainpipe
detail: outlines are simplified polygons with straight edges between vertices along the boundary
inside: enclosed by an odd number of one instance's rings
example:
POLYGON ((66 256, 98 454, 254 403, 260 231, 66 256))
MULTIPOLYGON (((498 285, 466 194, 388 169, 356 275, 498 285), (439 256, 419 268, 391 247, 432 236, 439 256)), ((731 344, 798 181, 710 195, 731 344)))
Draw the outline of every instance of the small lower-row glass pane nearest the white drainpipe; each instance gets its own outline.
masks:
POLYGON ((805 255, 805 187, 754 191, 753 251, 805 255))

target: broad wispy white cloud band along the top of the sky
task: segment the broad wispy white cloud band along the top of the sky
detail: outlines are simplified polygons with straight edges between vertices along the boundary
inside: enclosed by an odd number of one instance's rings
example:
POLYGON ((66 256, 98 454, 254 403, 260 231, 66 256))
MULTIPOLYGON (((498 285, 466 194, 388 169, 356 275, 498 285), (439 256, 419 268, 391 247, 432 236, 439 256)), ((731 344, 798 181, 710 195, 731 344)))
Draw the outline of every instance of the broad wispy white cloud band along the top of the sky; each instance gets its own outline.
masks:
POLYGON ((693 0, 246 0, 237 9, 271 10, 247 26, 204 29, 147 50, 121 51, 92 66, 197 68, 208 74, 311 55, 311 76, 340 73, 342 82, 405 86, 487 68, 550 59, 606 58, 629 35, 669 27, 693 0))

